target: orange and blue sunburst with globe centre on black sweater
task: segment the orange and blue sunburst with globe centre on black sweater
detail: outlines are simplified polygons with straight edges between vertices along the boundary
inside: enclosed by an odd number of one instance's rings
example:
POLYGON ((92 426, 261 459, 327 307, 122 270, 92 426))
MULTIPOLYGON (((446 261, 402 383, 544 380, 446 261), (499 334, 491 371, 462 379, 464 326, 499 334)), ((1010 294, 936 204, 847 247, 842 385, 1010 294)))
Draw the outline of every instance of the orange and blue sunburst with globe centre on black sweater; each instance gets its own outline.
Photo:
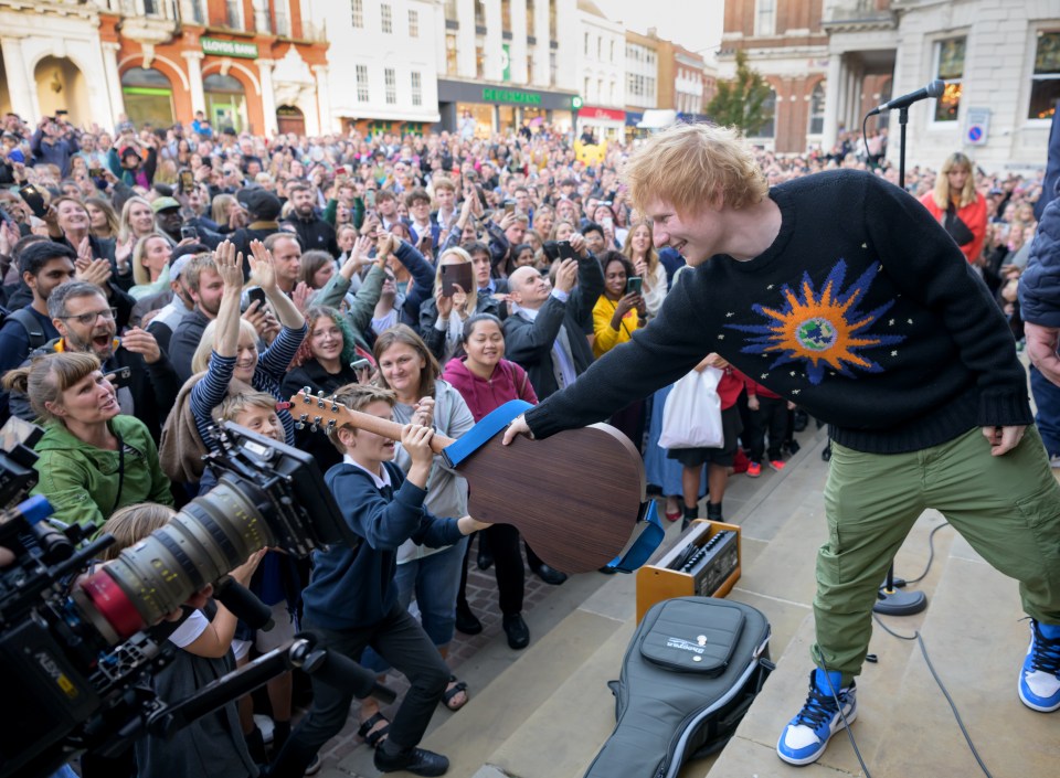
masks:
POLYGON ((805 273, 797 289, 793 290, 786 284, 782 287, 781 294, 785 300, 783 308, 752 306, 752 310, 765 318, 766 323, 725 327, 757 335, 745 338, 748 345, 741 351, 746 354, 776 354, 770 370, 792 362, 804 363, 806 376, 814 385, 822 382, 826 370, 848 379, 857 377, 855 370, 882 372, 882 366, 861 352, 900 343, 905 335, 869 332, 872 324, 894 305, 894 300, 867 312, 858 307, 859 302, 863 302, 878 271, 879 268, 872 265, 844 290, 847 264, 840 259, 831 268, 819 292, 814 288, 809 274, 805 273))

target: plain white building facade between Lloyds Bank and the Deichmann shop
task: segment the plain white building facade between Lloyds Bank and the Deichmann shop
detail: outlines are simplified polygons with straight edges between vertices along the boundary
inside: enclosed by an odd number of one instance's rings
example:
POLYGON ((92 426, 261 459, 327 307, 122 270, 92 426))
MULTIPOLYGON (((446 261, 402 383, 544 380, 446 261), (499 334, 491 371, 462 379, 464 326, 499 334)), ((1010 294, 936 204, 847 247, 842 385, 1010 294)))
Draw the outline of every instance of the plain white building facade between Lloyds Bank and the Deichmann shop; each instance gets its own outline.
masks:
POLYGON ((329 99, 332 126, 418 134, 438 121, 437 3, 350 0, 319 9, 329 70, 343 74, 329 99))

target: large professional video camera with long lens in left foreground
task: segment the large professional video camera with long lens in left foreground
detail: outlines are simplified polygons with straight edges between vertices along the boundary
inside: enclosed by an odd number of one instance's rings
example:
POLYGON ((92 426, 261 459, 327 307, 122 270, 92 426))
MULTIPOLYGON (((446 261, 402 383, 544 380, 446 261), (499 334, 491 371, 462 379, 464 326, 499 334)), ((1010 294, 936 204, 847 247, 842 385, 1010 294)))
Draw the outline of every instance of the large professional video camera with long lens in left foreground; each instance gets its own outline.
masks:
MULTIPOLYGON (((0 778, 46 776, 75 753, 108 756, 147 732, 165 736, 293 667, 358 696, 393 700, 370 672, 316 648, 309 635, 189 700, 155 695, 151 676, 173 656, 166 637, 174 625, 163 619, 189 597, 225 588, 226 573, 266 546, 300 557, 358 543, 312 457, 231 423, 216 436, 221 450, 209 459, 222 473, 218 486, 81 578, 113 539, 78 546, 95 527, 56 529, 43 498, 25 500, 36 480, 32 449, 0 451, 0 508, 8 509, 0 546, 15 557, 0 569, 0 778)), ((219 598, 248 620, 264 607, 241 587, 227 593, 231 604, 219 598)))

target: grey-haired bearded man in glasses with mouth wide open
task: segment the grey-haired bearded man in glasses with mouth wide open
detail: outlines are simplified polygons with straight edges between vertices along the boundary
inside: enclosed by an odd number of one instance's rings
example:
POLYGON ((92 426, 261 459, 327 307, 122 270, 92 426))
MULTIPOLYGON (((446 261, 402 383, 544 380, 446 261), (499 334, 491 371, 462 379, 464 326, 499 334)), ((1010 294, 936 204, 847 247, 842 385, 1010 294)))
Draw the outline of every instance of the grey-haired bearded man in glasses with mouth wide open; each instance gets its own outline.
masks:
MULTIPOLYGON (((105 375, 128 367, 129 380, 118 388, 121 413, 144 422, 158 443, 166 414, 177 403, 180 383, 155 337, 134 327, 120 339, 115 338, 114 309, 99 287, 86 281, 67 281, 53 289, 47 312, 60 337, 31 353, 30 360, 81 351, 95 354, 105 375)), ((11 393, 11 415, 28 422, 36 417, 29 397, 17 392, 11 393)))

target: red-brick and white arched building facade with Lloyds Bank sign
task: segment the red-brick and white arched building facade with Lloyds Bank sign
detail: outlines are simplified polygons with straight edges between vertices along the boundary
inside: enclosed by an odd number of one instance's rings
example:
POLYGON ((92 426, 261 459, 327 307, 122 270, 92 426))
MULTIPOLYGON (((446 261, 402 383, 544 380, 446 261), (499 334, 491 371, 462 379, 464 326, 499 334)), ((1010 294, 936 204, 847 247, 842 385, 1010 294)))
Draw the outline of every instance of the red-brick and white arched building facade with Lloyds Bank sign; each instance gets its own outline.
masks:
POLYGON ((0 1, 0 107, 36 119, 319 134, 325 30, 308 0, 0 1), (46 30, 46 33, 45 33, 46 30), (91 109, 89 109, 91 106, 91 109))

